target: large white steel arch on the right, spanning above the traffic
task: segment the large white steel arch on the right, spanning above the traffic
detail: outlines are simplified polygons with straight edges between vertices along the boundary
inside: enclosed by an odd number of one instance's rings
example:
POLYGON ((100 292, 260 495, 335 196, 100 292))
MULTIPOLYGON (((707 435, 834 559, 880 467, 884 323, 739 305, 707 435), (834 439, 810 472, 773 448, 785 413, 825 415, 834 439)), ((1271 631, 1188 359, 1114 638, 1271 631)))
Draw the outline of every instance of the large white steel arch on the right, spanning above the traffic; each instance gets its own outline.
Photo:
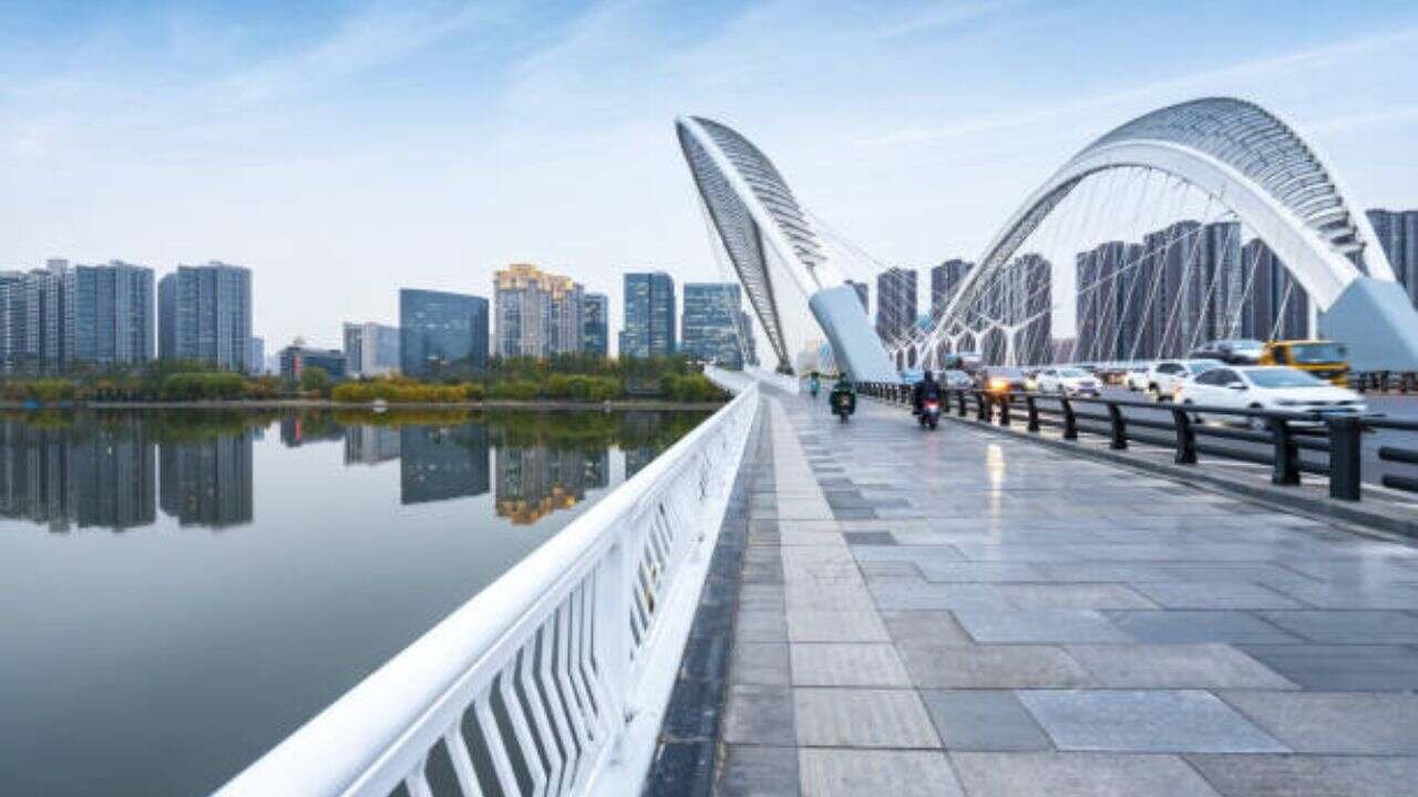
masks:
POLYGON ((1146 113, 1099 138, 1055 172, 1010 217, 929 335, 964 325, 978 294, 1045 217, 1090 174, 1144 167, 1205 191, 1248 224, 1285 262, 1320 311, 1341 299, 1344 318, 1377 312, 1418 357, 1418 316, 1392 302, 1394 271, 1367 217, 1340 191, 1332 169, 1292 126, 1252 102, 1205 98, 1146 113), (1356 284, 1361 286, 1350 291, 1356 284), (1374 303, 1378 306, 1374 306, 1374 303), (1412 322, 1412 323, 1409 323, 1412 322))

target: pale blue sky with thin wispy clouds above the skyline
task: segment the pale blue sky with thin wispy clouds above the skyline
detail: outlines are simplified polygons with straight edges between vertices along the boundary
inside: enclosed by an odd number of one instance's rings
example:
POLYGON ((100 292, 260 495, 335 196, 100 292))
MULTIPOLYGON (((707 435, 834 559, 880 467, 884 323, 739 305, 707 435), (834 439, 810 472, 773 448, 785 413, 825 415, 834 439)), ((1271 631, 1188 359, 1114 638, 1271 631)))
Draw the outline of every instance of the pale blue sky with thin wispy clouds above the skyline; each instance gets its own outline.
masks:
POLYGON ((678 115, 929 268, 1205 95, 1293 122, 1360 207, 1418 207, 1411 0, 0 0, 0 268, 247 265, 274 350, 533 262, 610 294, 614 332, 627 269, 725 278, 678 115))

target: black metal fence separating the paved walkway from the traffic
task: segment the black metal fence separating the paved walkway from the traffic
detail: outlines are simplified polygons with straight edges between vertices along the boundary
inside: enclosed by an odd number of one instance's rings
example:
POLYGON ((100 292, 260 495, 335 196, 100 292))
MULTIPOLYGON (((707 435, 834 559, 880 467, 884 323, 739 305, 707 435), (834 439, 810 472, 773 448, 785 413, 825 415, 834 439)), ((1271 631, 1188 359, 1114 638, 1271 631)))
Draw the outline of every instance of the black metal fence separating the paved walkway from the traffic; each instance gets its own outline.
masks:
MULTIPOLYGON (((858 393, 892 404, 909 406, 912 389, 896 383, 859 383, 858 393)), ((1022 424, 1027 431, 1059 430, 1064 440, 1083 435, 1103 437, 1109 448, 1122 451, 1129 444, 1157 445, 1174 450, 1173 461, 1195 465, 1201 457, 1252 462, 1271 468, 1271 482, 1297 485, 1300 474, 1329 478, 1329 494, 1341 501, 1361 498, 1363 434, 1366 430, 1418 431, 1418 421, 1360 416, 1320 416, 1314 413, 1279 413, 1268 410, 1236 410, 1229 407, 1201 407, 1193 404, 1156 404, 1133 398, 1069 397, 1044 393, 990 393, 971 389, 942 390, 942 413, 951 411, 961 418, 1010 427, 1022 424), (953 410, 951 410, 953 407, 953 410), (1170 417, 1127 417, 1127 407, 1160 410, 1170 417), (1198 414, 1229 417, 1245 428, 1210 425, 1198 414), (1227 442, 1259 444, 1261 448, 1239 448, 1227 442), (1302 458, 1300 451, 1317 454, 1302 458)), ((1418 450, 1383 445, 1378 458, 1418 467, 1418 450)), ((1418 468, 1415 468, 1418 472, 1418 468)), ((1418 492, 1418 478, 1385 474, 1387 488, 1418 492)))

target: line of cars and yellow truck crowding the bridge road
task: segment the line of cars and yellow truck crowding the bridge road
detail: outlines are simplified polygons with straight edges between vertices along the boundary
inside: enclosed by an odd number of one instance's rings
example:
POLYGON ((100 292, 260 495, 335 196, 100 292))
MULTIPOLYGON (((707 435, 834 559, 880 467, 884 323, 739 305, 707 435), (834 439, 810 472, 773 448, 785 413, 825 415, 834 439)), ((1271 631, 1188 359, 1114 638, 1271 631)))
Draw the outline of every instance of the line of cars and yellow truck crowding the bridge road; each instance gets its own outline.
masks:
MULTIPOLYGON (((1188 357, 1151 362, 1010 367, 983 366, 977 355, 954 355, 946 364, 937 376, 946 390, 984 390, 994 396, 1100 397, 1105 386, 1113 386, 1144 393, 1157 403, 1217 410, 1367 413, 1364 398, 1349 389, 1349 352, 1332 340, 1212 340, 1188 357)), ((920 380, 919 372, 902 376, 908 383, 920 380)), ((1197 416, 1231 420, 1219 414, 1197 416)))

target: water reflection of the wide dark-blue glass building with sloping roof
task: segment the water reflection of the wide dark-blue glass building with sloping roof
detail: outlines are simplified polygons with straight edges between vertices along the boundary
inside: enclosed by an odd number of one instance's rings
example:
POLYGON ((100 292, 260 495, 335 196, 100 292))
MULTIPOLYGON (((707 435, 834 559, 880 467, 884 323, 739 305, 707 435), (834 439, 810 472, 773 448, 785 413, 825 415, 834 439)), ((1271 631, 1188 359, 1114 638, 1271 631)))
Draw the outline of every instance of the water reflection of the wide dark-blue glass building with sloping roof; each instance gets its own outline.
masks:
POLYGON ((398 457, 400 503, 488 492, 488 430, 481 424, 400 427, 398 457))

